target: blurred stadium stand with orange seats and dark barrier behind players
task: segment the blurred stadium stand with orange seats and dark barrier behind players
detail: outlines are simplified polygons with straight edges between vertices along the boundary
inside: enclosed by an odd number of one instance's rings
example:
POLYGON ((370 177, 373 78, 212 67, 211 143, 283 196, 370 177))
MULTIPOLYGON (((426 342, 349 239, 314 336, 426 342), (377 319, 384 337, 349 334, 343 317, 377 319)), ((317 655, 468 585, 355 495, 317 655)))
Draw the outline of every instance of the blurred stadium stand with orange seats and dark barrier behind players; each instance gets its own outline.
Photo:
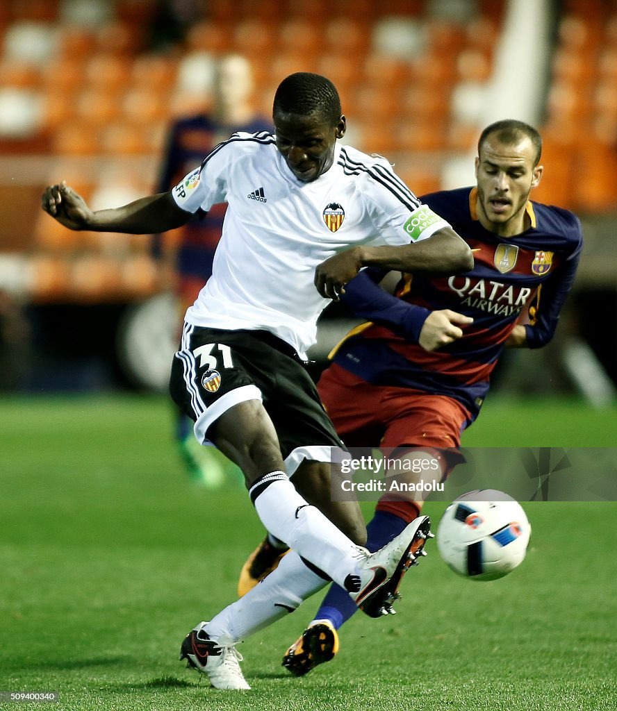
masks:
MULTIPOLYGON (((176 314, 149 299, 174 275, 144 237, 70 232, 40 196, 62 179, 93 208, 153 191, 167 127, 207 109, 213 58, 231 51, 253 63, 266 116, 285 75, 330 77, 345 141, 387 156, 418 195, 473 182, 490 121, 537 126, 545 172, 532 197, 574 210, 586 235, 557 347, 574 339, 604 383, 617 379, 617 2, 4 0, 0 388, 154 383, 135 373, 127 344, 142 338, 133 316, 154 313, 149 333, 167 363, 174 339, 162 323, 176 314)), ((324 319, 319 358, 336 316, 324 319)), ((152 343, 146 351, 157 358, 152 343)), ((557 385, 580 389, 563 360, 557 385)), ((528 387, 556 363, 530 365, 528 387)), ((518 375, 503 387, 520 386, 518 375)))

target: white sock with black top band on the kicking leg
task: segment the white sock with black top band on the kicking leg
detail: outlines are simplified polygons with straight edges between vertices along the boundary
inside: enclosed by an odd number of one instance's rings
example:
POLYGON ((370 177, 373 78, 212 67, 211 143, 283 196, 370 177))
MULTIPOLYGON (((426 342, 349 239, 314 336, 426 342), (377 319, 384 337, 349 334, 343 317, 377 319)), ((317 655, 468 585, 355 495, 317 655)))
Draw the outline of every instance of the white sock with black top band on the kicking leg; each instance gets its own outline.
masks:
POLYGON ((282 471, 260 479, 250 493, 265 528, 345 588, 347 576, 357 572, 359 547, 310 506, 282 471))

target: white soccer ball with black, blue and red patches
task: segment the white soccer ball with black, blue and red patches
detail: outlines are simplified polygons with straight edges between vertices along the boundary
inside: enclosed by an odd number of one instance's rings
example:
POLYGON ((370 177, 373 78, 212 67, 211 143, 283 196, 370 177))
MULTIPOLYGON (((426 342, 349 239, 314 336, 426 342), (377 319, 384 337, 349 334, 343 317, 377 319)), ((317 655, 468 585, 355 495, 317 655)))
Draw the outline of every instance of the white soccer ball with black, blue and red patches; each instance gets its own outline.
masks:
POLYGON ((495 580, 522 563, 531 533, 515 499, 495 489, 476 489, 445 509, 437 528, 437 548, 458 574, 495 580))

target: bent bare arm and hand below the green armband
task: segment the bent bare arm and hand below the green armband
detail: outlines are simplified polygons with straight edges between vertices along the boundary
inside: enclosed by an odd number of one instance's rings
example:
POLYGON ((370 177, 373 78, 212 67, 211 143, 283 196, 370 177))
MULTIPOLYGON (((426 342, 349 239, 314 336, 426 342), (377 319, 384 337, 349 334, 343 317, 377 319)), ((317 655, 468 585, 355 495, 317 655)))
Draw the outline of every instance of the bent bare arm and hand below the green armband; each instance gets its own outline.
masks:
POLYGON ((338 300, 344 286, 362 267, 381 267, 414 274, 460 274, 473 269, 473 253, 452 228, 443 228, 428 240, 399 247, 351 247, 315 269, 315 287, 327 299, 338 300))

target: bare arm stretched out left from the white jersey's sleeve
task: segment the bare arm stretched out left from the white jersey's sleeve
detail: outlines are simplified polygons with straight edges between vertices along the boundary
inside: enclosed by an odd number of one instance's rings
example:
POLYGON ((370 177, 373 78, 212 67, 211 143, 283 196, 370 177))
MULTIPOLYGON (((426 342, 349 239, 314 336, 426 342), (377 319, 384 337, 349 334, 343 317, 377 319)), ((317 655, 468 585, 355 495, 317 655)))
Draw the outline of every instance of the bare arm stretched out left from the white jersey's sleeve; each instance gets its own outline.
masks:
POLYGON ((191 213, 176 205, 172 193, 139 198, 120 208, 91 210, 64 181, 46 188, 41 203, 46 213, 70 230, 147 235, 173 230, 191 217, 191 213))

